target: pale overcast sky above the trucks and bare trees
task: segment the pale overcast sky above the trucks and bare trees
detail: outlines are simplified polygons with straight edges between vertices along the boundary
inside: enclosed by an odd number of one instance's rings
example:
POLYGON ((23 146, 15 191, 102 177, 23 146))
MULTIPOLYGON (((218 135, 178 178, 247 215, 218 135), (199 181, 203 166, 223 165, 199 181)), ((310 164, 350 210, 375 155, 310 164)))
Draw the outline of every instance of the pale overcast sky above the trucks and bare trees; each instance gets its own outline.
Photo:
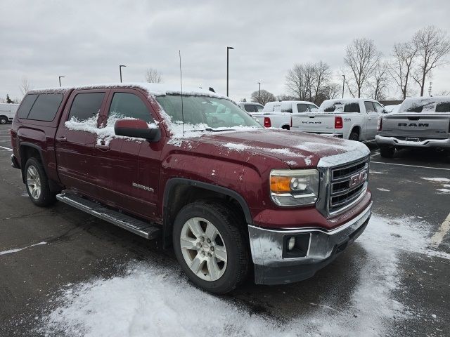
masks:
MULTIPOLYGON (((389 55, 395 42, 434 24, 450 33, 450 1, 6 1, 0 0, 0 97, 34 88, 143 81, 147 67, 179 86, 250 98, 262 88, 285 93, 296 62, 323 60, 339 69, 355 37, 389 55)), ((433 91, 450 90, 450 67, 435 70, 433 91)), ((428 85, 426 88, 428 92, 428 85)), ((394 91, 392 91, 394 94, 394 91)))

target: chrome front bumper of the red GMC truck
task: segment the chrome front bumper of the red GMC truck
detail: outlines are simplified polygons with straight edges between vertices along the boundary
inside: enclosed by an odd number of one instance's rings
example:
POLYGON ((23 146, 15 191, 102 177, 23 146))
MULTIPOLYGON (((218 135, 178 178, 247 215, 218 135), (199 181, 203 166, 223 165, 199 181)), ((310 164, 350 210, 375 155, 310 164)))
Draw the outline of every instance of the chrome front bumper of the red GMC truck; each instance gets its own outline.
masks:
POLYGON ((255 283, 286 284, 312 277, 359 237, 371 214, 372 203, 359 216, 330 231, 321 228, 269 230, 249 225, 255 283), (286 253, 287 238, 295 235, 309 237, 304 256, 290 257, 286 253))

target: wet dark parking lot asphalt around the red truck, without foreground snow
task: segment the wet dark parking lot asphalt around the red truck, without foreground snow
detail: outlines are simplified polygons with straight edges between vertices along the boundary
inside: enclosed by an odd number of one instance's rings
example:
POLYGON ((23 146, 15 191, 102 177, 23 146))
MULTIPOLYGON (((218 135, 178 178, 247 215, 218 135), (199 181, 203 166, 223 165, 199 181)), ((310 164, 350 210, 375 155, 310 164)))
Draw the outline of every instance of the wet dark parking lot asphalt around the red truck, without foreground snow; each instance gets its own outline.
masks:
MULTIPOLYGON (((0 126, 0 336, 44 335, 61 289, 110 279, 130 263, 181 275, 158 241, 65 204, 34 206, 11 167, 9 127, 0 126)), ((374 216, 366 232, 311 279, 249 279, 221 300, 290 336, 450 336, 450 156, 404 150, 383 159, 367 145, 374 216)))

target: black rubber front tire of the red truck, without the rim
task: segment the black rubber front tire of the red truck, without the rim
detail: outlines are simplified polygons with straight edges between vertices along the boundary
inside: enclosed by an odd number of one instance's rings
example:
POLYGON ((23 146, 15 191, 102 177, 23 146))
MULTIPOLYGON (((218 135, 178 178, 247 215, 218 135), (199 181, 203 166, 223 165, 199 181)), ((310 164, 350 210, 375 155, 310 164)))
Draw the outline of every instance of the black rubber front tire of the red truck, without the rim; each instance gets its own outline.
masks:
POLYGON ((245 223, 231 209, 214 201, 198 201, 184 206, 176 216, 173 229, 173 243, 176 259, 188 278, 200 289, 210 293, 228 293, 245 281, 250 265, 250 255, 243 229, 245 223), (181 251, 181 230, 187 220, 205 218, 217 228, 226 246, 226 269, 215 281, 201 279, 191 270, 181 251))

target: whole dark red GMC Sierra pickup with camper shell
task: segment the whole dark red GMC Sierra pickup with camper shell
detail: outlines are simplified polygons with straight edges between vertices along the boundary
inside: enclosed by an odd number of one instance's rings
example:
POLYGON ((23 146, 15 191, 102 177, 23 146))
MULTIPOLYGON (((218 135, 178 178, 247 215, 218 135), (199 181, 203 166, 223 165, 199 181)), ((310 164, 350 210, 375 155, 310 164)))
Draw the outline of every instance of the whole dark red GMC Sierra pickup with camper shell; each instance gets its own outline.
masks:
POLYGON ((225 293, 311 277, 371 216, 361 143, 263 128, 228 98, 116 84, 27 93, 12 165, 37 206, 56 200, 148 239, 194 284, 225 293))

